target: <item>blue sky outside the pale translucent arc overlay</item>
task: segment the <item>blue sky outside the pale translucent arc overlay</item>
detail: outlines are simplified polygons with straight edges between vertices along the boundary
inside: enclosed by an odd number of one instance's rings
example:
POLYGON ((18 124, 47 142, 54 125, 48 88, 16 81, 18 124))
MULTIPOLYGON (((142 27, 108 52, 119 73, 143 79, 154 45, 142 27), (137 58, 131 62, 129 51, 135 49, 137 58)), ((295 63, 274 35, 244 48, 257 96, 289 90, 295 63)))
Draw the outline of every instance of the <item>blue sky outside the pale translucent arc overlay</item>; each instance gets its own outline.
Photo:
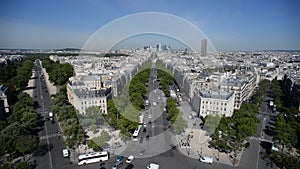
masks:
POLYGON ((161 12, 194 24, 218 51, 300 50, 299 9, 298 0, 2 0, 0 48, 80 49, 120 17, 161 12))

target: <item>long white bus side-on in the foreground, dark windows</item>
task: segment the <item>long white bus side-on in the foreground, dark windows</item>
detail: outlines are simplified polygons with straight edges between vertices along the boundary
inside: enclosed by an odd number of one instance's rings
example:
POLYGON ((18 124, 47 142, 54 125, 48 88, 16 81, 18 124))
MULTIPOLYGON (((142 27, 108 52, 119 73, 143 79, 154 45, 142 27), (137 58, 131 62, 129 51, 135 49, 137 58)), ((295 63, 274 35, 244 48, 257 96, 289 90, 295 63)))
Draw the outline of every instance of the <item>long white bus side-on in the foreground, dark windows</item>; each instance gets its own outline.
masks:
POLYGON ((78 156, 78 165, 85 165, 85 164, 96 163, 100 161, 107 161, 108 158, 109 157, 107 151, 82 154, 78 156))

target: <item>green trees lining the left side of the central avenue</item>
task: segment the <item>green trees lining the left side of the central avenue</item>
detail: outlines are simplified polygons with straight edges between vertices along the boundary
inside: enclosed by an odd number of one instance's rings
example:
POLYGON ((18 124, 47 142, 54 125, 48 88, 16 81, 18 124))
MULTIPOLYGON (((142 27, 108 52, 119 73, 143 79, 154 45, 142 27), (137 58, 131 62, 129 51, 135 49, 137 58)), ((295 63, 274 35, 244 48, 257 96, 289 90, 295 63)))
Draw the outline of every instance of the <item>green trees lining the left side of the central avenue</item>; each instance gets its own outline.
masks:
MULTIPOLYGON (((146 83, 150 73, 151 62, 147 61, 139 67, 138 73, 129 84, 125 85, 120 96, 107 101, 107 114, 100 113, 98 107, 90 107, 80 120, 84 127, 97 132, 101 126, 120 130, 121 138, 128 139, 138 126, 139 111, 143 108, 143 96, 147 94, 146 83), (129 100, 128 100, 129 98, 129 100)), ((105 130, 99 137, 88 141, 90 148, 106 146, 111 139, 105 130)))

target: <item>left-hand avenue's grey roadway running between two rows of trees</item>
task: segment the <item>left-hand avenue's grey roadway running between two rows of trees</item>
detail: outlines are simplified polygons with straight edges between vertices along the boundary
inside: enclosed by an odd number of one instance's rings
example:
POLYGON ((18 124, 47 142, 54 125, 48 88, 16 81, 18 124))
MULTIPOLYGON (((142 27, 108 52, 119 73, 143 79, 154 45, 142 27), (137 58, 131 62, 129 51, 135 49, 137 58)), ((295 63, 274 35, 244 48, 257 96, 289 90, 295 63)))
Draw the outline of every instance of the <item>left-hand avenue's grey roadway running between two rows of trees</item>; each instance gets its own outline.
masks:
POLYGON ((70 165, 70 161, 62 156, 64 144, 62 137, 57 133, 60 130, 56 117, 54 117, 53 122, 49 120, 50 95, 38 62, 36 64, 35 77, 33 96, 35 110, 39 117, 38 135, 40 137, 38 150, 34 154, 34 159, 37 162, 36 168, 65 168, 70 165))

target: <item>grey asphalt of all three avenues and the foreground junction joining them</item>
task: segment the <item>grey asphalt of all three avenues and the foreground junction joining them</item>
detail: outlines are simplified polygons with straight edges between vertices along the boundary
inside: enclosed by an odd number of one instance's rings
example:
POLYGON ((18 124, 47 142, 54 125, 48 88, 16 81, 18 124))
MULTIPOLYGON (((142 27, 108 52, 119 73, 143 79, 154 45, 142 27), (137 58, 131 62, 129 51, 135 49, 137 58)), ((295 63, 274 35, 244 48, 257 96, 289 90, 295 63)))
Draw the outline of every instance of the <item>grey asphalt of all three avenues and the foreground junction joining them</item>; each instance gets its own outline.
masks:
MULTIPOLYGON (((264 139, 269 139, 268 135, 265 133, 265 126, 269 124, 272 118, 267 107, 267 102, 264 102, 260 106, 259 119, 261 123, 258 125, 257 134, 250 140, 251 147, 246 149, 242 155, 241 161, 238 167, 233 167, 221 163, 215 162, 213 165, 200 163, 197 159, 189 158, 183 155, 178 147, 176 149, 171 149, 172 134, 168 131, 169 122, 166 120, 167 114, 163 112, 165 106, 165 100, 162 91, 158 90, 158 82, 156 79, 156 69, 152 65, 151 73, 149 76, 148 83, 148 98, 150 101, 150 106, 146 108, 144 113, 144 121, 146 123, 146 131, 141 131, 139 137, 142 137, 142 141, 129 142, 127 148, 122 153, 125 158, 129 155, 134 155, 133 160, 134 168, 142 169, 146 168, 146 165, 154 162, 158 163, 163 169, 260 169, 260 168, 271 168, 268 161, 263 159, 264 149, 260 146, 260 137, 264 139), (270 116, 269 116, 270 115, 270 116), (149 124, 149 122, 151 123, 149 124), (262 135, 262 133, 264 133, 262 135), (149 135, 149 140, 146 140, 146 136, 149 135), (145 149, 143 155, 140 154, 140 150, 145 149), (269 166, 268 166, 269 165, 269 166)), ((40 123, 43 127, 39 132, 41 138, 41 143, 39 146, 39 151, 35 156, 37 160, 38 169, 94 169, 100 168, 100 163, 89 164, 86 166, 78 166, 77 164, 70 164, 69 159, 62 157, 61 150, 64 148, 62 138, 57 137, 57 131, 59 131, 59 126, 57 119, 55 123, 51 123, 48 118, 48 113, 50 111, 50 96, 46 92, 45 83, 43 78, 39 76, 39 69, 36 71, 36 80, 34 89, 34 100, 40 105, 37 108, 37 112, 40 115, 40 123), (48 148, 49 147, 49 148, 48 148)), ((266 98, 267 99, 267 98, 266 98)), ((107 162, 105 162, 105 168, 110 169, 114 162, 116 156, 112 156, 107 162)), ((125 160, 124 160, 125 161, 125 160)), ((124 169, 126 164, 121 167, 124 169)))

